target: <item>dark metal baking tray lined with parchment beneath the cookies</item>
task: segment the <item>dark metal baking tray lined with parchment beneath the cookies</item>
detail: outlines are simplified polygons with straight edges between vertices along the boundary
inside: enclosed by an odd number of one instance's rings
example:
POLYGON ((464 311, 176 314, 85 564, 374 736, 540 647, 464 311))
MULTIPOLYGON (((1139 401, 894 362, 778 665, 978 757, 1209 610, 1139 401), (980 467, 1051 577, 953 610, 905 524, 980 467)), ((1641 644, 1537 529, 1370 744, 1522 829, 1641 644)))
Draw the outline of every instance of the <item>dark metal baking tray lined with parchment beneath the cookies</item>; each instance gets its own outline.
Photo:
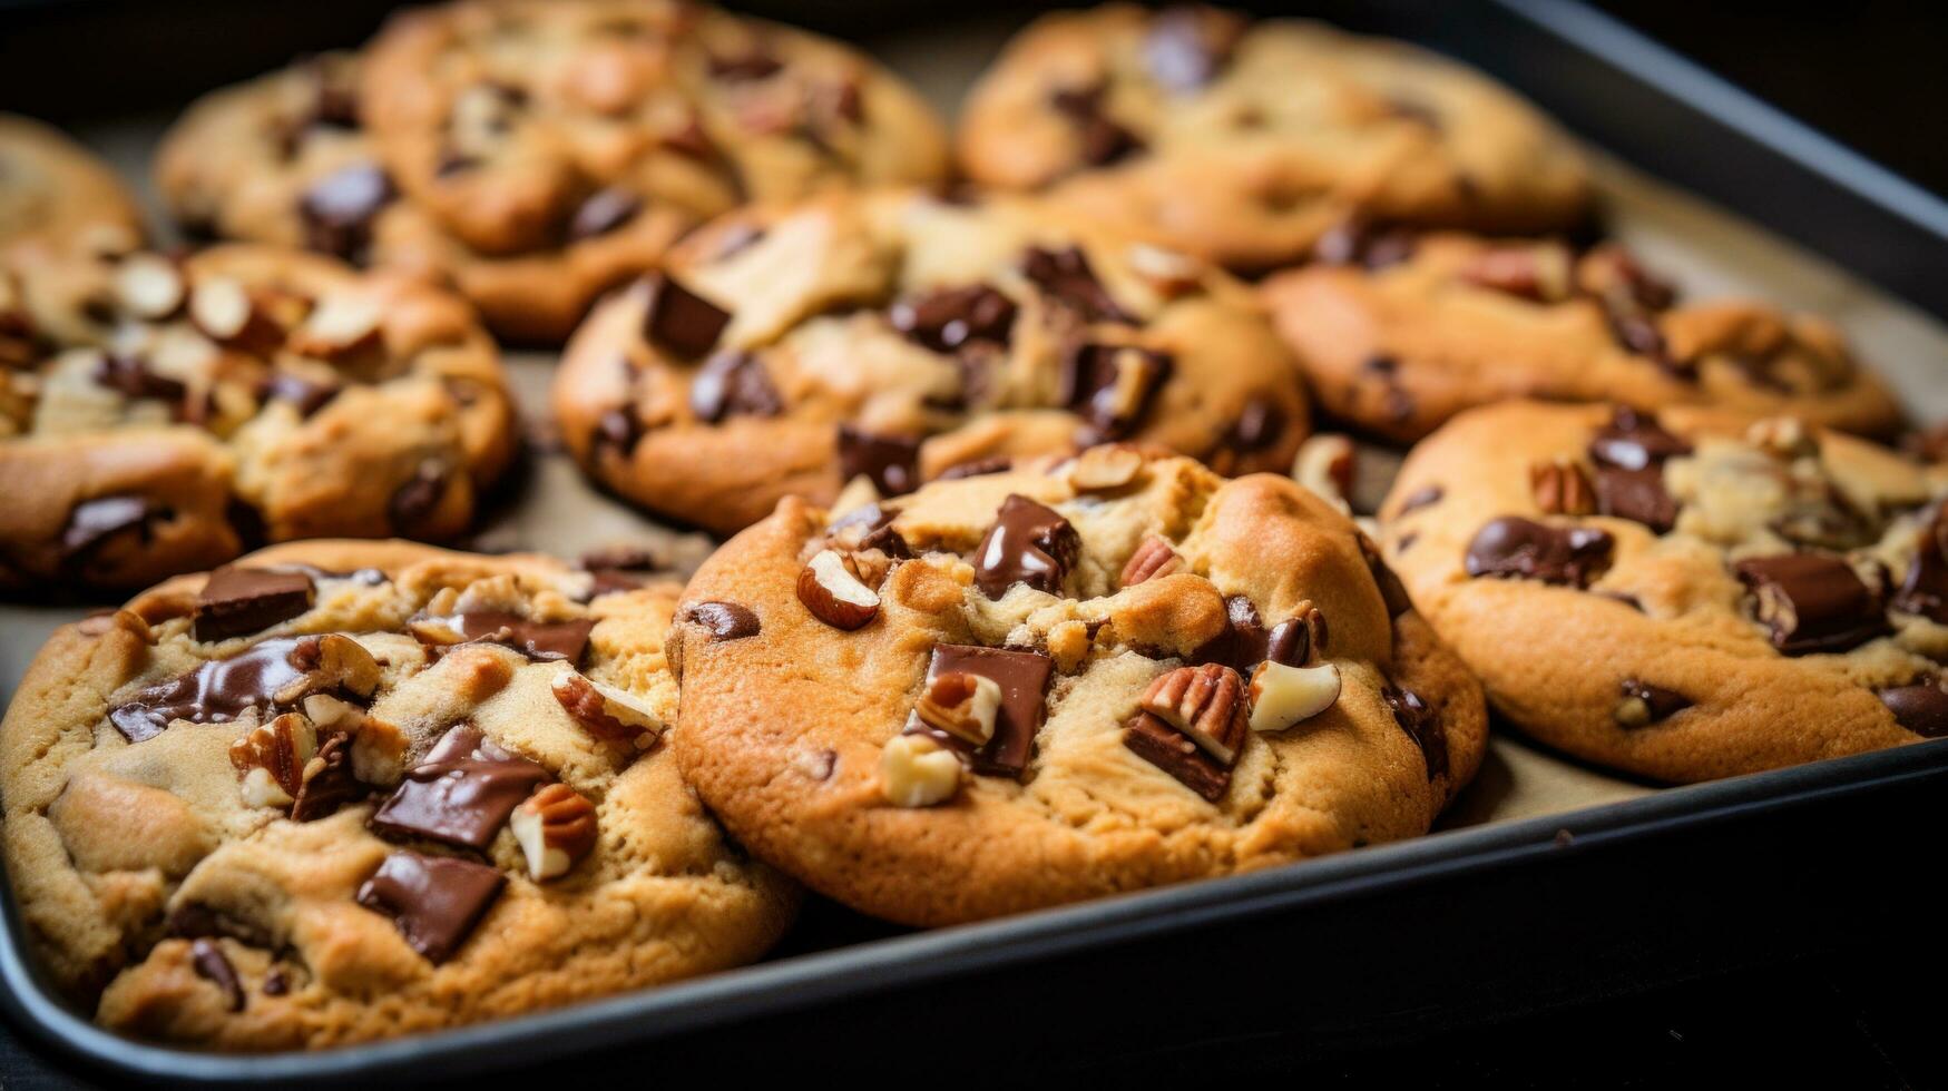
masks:
MULTIPOLYGON (((836 6, 877 8, 886 4, 836 6)), ((1617 230, 1654 265, 1699 296, 1743 288, 1831 314, 1909 405, 1948 413, 1940 201, 1580 4, 1309 8, 1321 10, 1510 80, 1601 148, 1617 230)), ((869 45, 945 105, 1007 29, 978 21, 869 45)), ((138 171, 169 113, 84 136, 138 171)), ((524 405, 542 405, 547 357, 508 362, 524 405)), ((536 433, 479 547, 573 555, 651 542, 676 569, 709 549, 590 493, 545 427, 536 433)), ((0 608, 0 688, 74 616, 0 608)), ((1218 1060, 1237 1068, 1241 1054, 1327 1056, 1921 923, 1934 883, 1917 849, 1944 785, 1948 740, 1660 791, 1502 734, 1428 838, 931 933, 812 900, 781 951, 742 970, 440 1035, 255 1058, 92 1027, 45 990, 12 894, 0 892, 0 1005, 111 1079, 427 1083, 573 1054, 577 1079, 816 1072, 937 1081, 966 1064, 964 1042, 978 1042, 986 1077, 1046 1077, 1085 1062, 1093 1075, 1105 1066, 1196 1075, 1218 1060)))

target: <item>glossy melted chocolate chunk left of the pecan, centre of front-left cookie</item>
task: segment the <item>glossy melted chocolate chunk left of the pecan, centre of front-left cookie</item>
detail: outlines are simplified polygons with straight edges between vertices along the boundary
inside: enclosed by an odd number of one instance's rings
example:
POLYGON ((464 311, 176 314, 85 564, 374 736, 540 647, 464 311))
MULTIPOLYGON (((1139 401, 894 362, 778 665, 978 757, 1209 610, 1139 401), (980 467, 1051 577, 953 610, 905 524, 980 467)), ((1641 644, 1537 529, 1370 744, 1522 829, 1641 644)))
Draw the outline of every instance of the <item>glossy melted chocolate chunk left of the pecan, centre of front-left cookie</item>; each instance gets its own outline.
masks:
POLYGON ((485 851, 520 801, 549 779, 542 766, 508 754, 471 725, 458 725, 405 771, 392 799, 372 814, 372 828, 485 851))

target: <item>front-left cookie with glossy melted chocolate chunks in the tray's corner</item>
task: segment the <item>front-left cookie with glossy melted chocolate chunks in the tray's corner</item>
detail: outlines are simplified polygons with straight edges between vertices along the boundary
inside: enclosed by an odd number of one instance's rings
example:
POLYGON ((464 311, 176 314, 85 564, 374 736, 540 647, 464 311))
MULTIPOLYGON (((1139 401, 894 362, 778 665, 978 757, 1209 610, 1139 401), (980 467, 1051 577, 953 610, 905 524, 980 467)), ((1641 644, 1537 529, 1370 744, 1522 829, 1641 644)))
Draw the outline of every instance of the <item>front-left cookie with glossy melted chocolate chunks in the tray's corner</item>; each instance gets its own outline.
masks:
POLYGON ((111 1031, 273 1050, 756 959, 797 898, 678 777, 674 602, 302 542, 62 627, 0 725, 49 978, 111 1031))

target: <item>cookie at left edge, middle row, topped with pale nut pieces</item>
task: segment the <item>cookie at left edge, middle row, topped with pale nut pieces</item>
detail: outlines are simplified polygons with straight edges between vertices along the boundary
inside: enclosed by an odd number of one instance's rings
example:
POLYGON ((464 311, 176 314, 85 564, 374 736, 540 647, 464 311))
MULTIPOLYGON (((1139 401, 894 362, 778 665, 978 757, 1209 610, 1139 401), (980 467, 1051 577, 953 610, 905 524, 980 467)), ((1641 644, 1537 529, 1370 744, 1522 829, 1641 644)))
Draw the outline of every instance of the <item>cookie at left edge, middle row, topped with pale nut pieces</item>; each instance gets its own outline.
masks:
POLYGON ((21 261, 0 366, 0 590, 136 588, 255 540, 440 540, 512 458, 460 298, 327 257, 21 261))

